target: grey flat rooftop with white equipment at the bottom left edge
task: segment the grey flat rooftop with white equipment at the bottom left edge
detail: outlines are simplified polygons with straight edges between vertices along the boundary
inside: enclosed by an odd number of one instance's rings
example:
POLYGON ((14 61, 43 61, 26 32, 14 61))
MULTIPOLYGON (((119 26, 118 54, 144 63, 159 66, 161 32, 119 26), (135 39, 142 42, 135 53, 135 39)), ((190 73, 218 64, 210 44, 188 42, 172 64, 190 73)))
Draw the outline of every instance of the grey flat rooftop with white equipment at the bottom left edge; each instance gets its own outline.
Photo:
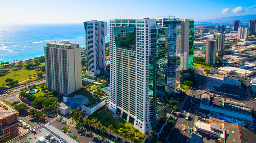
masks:
POLYGON ((79 143, 75 139, 71 138, 53 125, 49 125, 48 123, 45 125, 39 125, 35 128, 35 130, 35 133, 32 133, 32 130, 30 130, 29 132, 12 139, 9 141, 9 143, 24 143, 28 140, 28 138, 31 138, 29 143, 38 143, 39 140, 45 140, 46 143, 54 142, 54 140, 56 141, 55 143, 79 143))

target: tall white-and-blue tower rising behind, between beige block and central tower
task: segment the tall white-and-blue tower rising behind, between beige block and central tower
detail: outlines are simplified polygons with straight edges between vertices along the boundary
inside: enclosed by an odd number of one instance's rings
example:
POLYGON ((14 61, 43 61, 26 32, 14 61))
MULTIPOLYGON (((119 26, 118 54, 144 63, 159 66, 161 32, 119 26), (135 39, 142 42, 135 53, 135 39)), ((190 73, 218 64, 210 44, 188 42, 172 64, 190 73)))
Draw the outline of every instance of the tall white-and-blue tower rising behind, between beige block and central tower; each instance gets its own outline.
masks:
POLYGON ((101 71, 106 71, 105 36, 107 36, 107 22, 91 20, 83 24, 85 28, 86 73, 89 76, 96 76, 101 71))

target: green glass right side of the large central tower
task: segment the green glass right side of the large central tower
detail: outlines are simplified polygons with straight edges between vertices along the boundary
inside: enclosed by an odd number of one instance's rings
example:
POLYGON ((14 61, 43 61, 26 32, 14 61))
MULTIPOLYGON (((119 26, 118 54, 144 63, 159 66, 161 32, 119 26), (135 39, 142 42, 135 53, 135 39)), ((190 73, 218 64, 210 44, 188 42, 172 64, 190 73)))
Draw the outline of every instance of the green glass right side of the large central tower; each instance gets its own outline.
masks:
POLYGON ((167 94, 167 28, 150 30, 148 100, 152 104, 152 128, 160 129, 166 120, 167 94))

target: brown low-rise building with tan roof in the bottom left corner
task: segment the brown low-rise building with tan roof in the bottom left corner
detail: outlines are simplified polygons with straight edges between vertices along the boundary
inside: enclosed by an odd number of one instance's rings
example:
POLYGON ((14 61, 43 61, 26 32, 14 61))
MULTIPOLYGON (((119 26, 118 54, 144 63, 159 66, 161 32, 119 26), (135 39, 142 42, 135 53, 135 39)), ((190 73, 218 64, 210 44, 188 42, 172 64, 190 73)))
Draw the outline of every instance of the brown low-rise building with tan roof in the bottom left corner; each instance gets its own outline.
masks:
POLYGON ((19 112, 0 100, 0 142, 19 135, 19 112))

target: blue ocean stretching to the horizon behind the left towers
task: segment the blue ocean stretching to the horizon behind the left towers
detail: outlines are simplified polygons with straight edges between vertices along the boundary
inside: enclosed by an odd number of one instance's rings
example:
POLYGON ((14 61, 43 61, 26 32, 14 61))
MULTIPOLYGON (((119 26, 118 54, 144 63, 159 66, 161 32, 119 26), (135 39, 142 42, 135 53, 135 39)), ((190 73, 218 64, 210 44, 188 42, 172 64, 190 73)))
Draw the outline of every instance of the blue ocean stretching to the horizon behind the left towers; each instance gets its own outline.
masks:
MULTIPOLYGON (((105 42, 109 42, 108 36, 105 42)), ((0 61, 28 60, 45 55, 47 42, 69 40, 85 45, 83 23, 0 25, 0 61)))

